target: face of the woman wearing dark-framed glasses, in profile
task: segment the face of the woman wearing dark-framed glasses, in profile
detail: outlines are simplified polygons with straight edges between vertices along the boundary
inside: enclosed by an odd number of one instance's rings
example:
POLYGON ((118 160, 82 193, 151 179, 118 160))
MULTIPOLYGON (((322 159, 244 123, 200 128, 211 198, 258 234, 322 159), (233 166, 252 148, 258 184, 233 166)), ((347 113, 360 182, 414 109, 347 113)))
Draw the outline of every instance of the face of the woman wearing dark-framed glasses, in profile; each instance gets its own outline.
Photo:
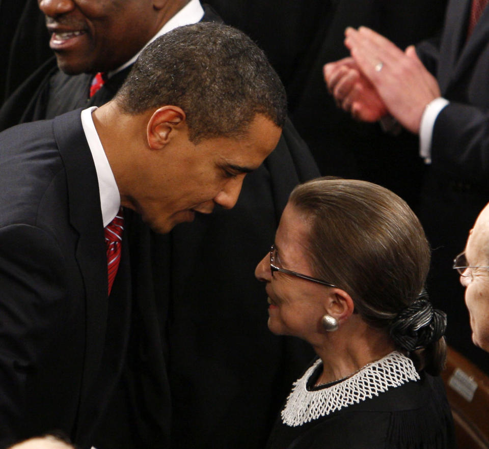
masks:
MULTIPOLYGON (((275 265, 314 276, 305 257, 308 234, 308 221, 288 203, 275 236, 275 265)), ((328 287, 279 271, 272 276, 269 253, 257 265, 255 276, 266 282, 268 328, 313 343, 313 335, 321 331, 325 310, 320 299, 328 287)))

